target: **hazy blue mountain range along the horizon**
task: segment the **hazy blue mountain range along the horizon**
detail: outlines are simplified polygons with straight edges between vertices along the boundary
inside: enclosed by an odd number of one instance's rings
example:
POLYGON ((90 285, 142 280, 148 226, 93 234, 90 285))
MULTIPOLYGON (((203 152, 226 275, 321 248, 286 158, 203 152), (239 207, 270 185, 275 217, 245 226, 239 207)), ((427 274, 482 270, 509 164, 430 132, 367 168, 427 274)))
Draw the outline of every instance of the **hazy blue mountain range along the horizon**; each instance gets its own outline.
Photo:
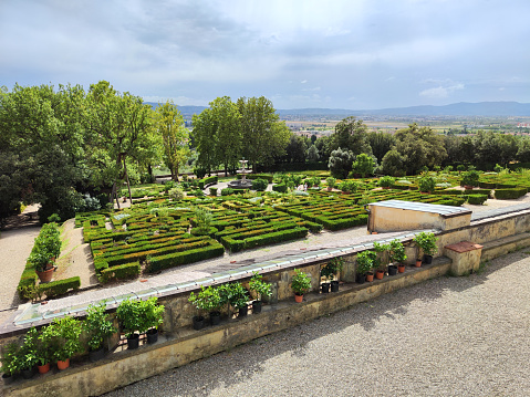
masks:
MULTIPOLYGON (((147 102, 148 103, 148 102, 147 102)), ((157 104, 148 103, 156 108, 157 104)), ((206 106, 178 106, 184 116, 199 114, 206 106)), ((285 116, 394 116, 394 117, 428 117, 428 116, 485 116, 485 117, 530 117, 530 103, 519 102, 460 102, 444 106, 408 106, 382 109, 353 111, 343 108, 293 108, 278 109, 280 117, 285 116)))

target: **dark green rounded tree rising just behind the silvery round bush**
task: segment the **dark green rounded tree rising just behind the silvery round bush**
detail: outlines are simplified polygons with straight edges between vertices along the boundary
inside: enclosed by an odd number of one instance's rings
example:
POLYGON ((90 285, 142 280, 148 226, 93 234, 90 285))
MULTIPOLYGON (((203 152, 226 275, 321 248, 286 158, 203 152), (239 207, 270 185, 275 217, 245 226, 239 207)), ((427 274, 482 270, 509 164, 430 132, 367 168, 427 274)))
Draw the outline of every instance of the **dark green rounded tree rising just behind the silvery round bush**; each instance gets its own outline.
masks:
POLYGON ((335 125, 335 132, 332 135, 333 148, 342 147, 352 152, 354 155, 360 153, 372 153, 367 142, 367 127, 362 119, 355 119, 350 116, 335 125))

